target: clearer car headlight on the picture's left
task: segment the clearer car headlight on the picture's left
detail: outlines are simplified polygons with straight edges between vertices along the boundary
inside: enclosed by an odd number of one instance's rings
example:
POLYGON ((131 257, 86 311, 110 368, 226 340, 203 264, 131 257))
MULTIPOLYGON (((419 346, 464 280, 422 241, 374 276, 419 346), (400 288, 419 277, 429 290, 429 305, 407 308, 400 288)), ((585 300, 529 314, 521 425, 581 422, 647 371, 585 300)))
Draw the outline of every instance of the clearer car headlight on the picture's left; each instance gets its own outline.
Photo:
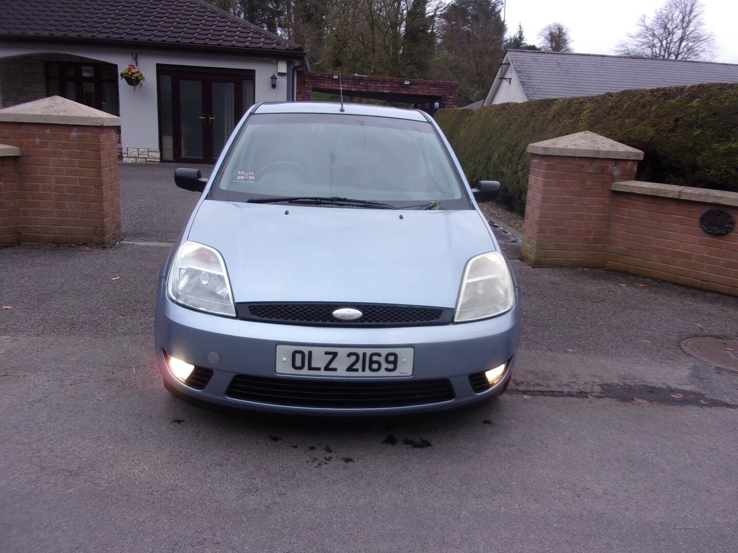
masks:
POLYGON ((210 246, 190 241, 179 246, 169 270, 167 292, 187 307, 235 317, 226 264, 210 246))

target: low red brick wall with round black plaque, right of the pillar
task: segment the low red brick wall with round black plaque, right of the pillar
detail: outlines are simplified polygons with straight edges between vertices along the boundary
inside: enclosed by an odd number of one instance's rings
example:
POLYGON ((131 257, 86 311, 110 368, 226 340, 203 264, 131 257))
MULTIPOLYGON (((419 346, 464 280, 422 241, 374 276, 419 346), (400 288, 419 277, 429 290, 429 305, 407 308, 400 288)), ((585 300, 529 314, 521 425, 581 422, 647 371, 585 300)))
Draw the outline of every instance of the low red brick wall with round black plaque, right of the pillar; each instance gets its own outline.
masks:
POLYGON ((738 208, 613 192, 607 268, 738 296, 738 229, 700 229, 708 209, 738 220, 738 208))

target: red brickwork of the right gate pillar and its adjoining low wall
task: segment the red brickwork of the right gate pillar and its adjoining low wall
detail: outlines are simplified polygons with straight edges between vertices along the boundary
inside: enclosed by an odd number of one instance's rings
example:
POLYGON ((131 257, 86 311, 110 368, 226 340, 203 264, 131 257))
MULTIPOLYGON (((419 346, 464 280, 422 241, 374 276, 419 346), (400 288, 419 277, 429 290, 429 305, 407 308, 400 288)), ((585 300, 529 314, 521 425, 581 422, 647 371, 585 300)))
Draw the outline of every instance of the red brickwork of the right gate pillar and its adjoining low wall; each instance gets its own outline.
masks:
POLYGON ((708 209, 738 220, 738 207, 613 191, 613 182, 633 180, 637 166, 635 160, 533 154, 523 258, 738 296, 738 229, 715 237, 700 228, 708 209))

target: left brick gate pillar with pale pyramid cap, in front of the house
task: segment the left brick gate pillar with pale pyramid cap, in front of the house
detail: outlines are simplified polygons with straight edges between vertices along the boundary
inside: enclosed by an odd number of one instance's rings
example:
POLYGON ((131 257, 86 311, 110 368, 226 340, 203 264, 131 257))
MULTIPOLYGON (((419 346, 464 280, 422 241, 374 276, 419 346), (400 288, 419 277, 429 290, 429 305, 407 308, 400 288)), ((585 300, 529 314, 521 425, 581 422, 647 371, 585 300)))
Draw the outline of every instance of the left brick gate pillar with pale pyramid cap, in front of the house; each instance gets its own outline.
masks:
POLYGON ((120 118, 61 97, 0 110, 0 142, 15 162, 18 240, 110 244, 120 240, 120 118))

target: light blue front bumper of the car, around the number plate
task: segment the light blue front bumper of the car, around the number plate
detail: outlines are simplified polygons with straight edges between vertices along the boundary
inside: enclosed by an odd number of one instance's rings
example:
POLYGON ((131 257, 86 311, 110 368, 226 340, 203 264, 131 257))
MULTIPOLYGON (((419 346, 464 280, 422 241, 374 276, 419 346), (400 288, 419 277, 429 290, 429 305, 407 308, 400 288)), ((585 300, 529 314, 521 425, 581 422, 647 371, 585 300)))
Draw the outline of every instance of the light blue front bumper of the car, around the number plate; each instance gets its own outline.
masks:
POLYGON ((520 311, 513 310, 493 319, 462 324, 420 327, 341 328, 311 327, 243 321, 182 307, 165 293, 159 279, 156 298, 155 344, 159 372, 170 389, 220 406, 278 413, 329 415, 377 415, 417 413, 464 406, 499 393, 508 382, 520 337, 520 311), (283 376, 275 371, 277 344, 335 347, 413 347, 413 375, 407 378, 336 378, 283 376), (204 389, 193 389, 174 378, 165 353, 195 366, 213 370, 204 389), (212 352, 218 354, 219 361, 212 352), (209 355, 210 354, 210 355, 209 355), (475 393, 469 375, 509 362, 505 378, 482 393, 475 393), (453 399, 437 403, 381 408, 334 408, 284 406, 277 403, 238 400, 226 392, 236 375, 284 378, 288 380, 330 379, 334 381, 448 379, 453 399))

